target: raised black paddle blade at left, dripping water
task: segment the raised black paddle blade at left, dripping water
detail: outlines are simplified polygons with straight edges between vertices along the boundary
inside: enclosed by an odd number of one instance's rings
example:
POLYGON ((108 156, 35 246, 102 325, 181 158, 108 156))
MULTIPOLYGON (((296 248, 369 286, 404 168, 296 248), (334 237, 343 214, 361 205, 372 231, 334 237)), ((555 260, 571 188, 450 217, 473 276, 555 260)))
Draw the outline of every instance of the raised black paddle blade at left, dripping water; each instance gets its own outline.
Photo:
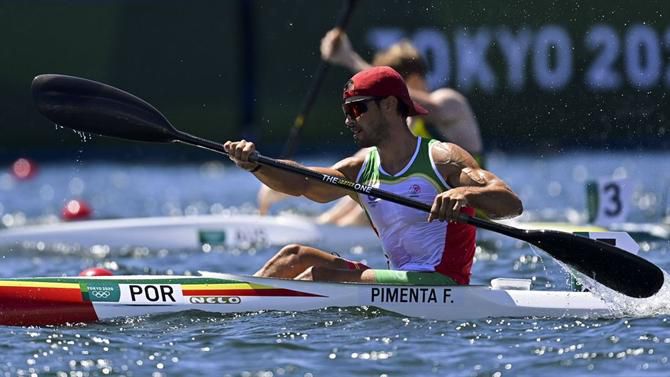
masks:
POLYGON ((112 86, 80 77, 39 75, 33 99, 58 126, 122 139, 166 143, 176 130, 149 103, 112 86))

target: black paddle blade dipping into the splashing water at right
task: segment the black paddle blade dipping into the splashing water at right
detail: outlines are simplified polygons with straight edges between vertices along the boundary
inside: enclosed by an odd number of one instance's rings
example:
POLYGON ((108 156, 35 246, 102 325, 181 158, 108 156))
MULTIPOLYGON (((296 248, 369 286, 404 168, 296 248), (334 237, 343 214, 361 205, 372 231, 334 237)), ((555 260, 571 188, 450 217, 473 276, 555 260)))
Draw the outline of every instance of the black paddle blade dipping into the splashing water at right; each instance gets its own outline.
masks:
POLYGON ((605 242, 551 230, 524 230, 520 239, 597 282, 630 297, 650 297, 663 286, 663 271, 644 258, 605 242))

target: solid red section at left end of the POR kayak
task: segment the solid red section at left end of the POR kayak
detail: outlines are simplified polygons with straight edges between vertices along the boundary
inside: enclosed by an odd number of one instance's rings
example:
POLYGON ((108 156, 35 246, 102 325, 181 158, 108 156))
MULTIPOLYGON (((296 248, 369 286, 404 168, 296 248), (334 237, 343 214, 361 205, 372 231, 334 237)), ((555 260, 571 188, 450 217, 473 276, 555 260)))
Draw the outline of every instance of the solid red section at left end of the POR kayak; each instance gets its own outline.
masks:
POLYGON ((43 326, 98 320, 81 290, 69 288, 0 287, 0 325, 43 326))

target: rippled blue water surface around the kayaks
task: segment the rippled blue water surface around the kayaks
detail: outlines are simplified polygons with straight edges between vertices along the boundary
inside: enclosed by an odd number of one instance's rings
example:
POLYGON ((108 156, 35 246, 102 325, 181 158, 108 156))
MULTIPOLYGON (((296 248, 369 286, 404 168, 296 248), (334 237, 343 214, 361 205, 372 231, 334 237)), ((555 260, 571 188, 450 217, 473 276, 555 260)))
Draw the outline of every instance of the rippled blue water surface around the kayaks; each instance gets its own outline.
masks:
MULTIPOLYGON (((324 160, 332 162, 333 160, 324 160)), ((319 161, 324 163, 324 161, 319 161)), ((510 183, 529 213, 564 220, 584 212, 584 184, 628 177, 635 184, 631 220, 667 215, 670 155, 570 153, 550 157, 492 155, 490 169, 510 183)), ((0 216, 45 221, 70 198, 85 198, 95 217, 253 211, 258 184, 229 164, 44 165, 16 181, 0 173, 0 216)), ((276 210, 317 213, 292 199, 276 210)), ((533 279, 536 289, 567 289, 570 278, 551 257, 495 236, 478 253, 473 283, 494 277, 533 279)), ((644 242, 641 255, 670 268, 668 241, 644 242)), ((0 250, 2 277, 76 275, 105 266, 116 274, 252 273, 274 249, 150 250, 91 253, 0 250)), ((381 249, 337 250, 384 266, 381 249)), ((667 287, 665 288, 667 290, 667 287)), ((664 291, 667 292, 667 291, 664 291)), ((670 294, 620 302, 614 318, 430 321, 373 308, 240 315, 187 313, 74 327, 0 327, 0 373, 6 376, 667 376, 670 294), (637 314, 631 314, 637 313, 637 314)))

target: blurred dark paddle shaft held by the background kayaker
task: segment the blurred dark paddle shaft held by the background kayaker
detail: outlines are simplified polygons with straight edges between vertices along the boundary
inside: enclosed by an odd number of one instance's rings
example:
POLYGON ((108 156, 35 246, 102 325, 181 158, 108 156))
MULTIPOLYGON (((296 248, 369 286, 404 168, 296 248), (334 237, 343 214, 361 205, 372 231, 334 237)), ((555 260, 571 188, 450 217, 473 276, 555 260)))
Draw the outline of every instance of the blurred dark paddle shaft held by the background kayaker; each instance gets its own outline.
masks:
MULTIPOLYGON (((344 0, 342 9, 340 9, 340 14, 337 16, 337 20, 335 21, 335 28, 339 29, 340 31, 344 31, 347 28, 347 24, 351 18, 351 13, 353 13, 354 6, 356 5, 357 1, 358 0, 344 0)), ((282 151, 283 158, 289 158, 293 156, 293 153, 295 153, 295 150, 298 146, 300 132, 305 125, 307 115, 309 114, 310 110, 312 110, 312 105, 314 105, 316 96, 319 94, 321 83, 323 83, 323 79, 326 77, 328 68, 330 68, 330 63, 321 59, 319 66, 316 68, 314 76, 312 76, 312 85, 310 86, 309 91, 305 96, 305 101, 300 107, 298 116, 295 118, 295 121, 293 121, 293 127, 291 127, 291 130, 289 131, 286 144, 284 144, 284 149, 282 151)))

